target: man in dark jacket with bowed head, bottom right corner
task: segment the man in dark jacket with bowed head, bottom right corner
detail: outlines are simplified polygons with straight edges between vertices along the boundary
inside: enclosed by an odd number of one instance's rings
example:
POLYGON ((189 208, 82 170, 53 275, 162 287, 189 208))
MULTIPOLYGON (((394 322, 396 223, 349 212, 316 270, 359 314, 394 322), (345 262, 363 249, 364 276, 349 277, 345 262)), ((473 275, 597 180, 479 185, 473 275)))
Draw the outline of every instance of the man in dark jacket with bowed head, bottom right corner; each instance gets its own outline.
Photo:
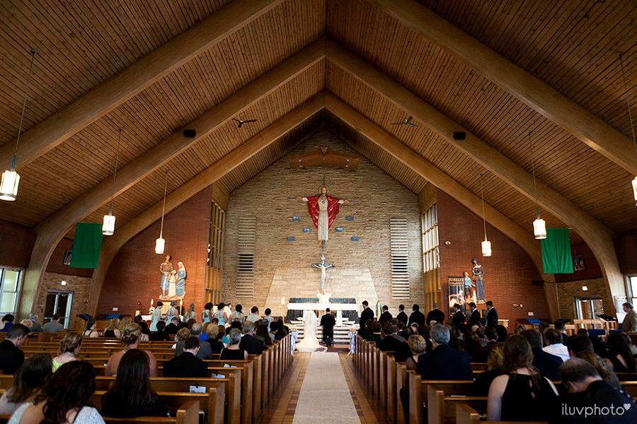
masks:
POLYGON ((560 396, 549 423, 637 423, 637 403, 604 382, 590 363, 580 358, 567 360, 560 375, 569 393, 560 396))

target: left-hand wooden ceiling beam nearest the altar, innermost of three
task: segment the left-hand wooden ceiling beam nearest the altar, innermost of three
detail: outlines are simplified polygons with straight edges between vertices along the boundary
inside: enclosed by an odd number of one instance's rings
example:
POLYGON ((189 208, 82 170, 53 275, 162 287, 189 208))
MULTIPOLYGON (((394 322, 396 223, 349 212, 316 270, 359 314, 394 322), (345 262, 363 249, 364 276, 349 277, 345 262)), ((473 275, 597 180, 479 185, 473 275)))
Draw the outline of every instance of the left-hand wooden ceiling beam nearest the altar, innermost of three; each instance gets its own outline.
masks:
MULTIPOLYGON (((231 170, 234 170, 234 168, 241 165, 241 163, 270 146, 271 143, 299 126, 299 124, 302 124, 302 122, 316 114, 316 112, 321 111, 324 106, 324 92, 321 92, 314 96, 314 98, 307 100, 292 110, 292 112, 286 114, 274 124, 268 126, 268 128, 261 131, 252 139, 241 144, 241 146, 225 155, 222 159, 217 161, 217 163, 208 167, 207 170, 201 172, 193 179, 190 179, 189 182, 166 196, 166 213, 170 213, 178 208, 178 206, 210 186, 210 184, 214 184, 214 182, 221 179, 231 170)), ((88 311, 90 314, 95 315, 97 312, 106 273, 108 272, 110 263, 115 259, 115 255, 129 240, 161 218, 162 206, 163 201, 157 202, 154 206, 147 209, 147 211, 137 216, 137 218, 134 218, 122 228, 119 228, 113 236, 105 238, 102 243, 98 269, 93 272, 93 279, 91 280, 91 292, 88 296, 88 311)))

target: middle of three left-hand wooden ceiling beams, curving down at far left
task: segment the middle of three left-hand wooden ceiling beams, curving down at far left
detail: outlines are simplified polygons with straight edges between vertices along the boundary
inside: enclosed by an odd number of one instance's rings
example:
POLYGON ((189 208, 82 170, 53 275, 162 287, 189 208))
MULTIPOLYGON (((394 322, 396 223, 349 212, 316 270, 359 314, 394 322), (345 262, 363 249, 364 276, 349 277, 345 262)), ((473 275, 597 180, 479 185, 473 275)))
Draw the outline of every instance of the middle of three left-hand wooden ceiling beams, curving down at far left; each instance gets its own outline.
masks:
MULTIPOLYGON (((323 39, 317 40, 186 125, 184 128, 195 129, 197 133, 195 138, 185 138, 183 131, 179 130, 122 167, 117 171, 115 196, 122 194, 163 163, 168 162, 197 143, 203 136, 222 126, 236 114, 239 114, 241 110, 254 105, 295 76, 323 60, 324 46, 323 39)), ((18 312, 21 314, 31 312, 47 263, 59 240, 62 240, 64 234, 81 218, 106 204, 110 199, 111 189, 113 189, 113 176, 105 178, 36 226, 38 238, 35 240, 33 254, 31 254, 29 266, 25 272, 18 312)))

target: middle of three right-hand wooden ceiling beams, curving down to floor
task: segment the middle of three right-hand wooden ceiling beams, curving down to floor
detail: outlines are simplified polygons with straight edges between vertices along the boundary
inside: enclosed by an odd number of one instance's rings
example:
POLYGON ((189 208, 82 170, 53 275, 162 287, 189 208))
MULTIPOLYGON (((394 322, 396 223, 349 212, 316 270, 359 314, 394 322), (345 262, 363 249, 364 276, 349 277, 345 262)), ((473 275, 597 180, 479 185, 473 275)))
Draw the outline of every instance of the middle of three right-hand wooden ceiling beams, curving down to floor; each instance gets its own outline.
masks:
MULTIPOLYGON (((453 146, 498 175, 524 196, 535 199, 533 177, 529 172, 471 134, 470 131, 463 129, 453 119, 332 40, 326 41, 326 57, 366 86, 376 90, 394 105, 407 110, 413 117, 430 126, 453 146), (466 139, 455 140, 454 131, 465 131, 466 139)), ((582 236, 595 253, 613 295, 625 295, 624 277, 619 271, 619 262, 612 242, 612 238, 616 236, 615 233, 541 181, 537 182, 537 199, 543 208, 563 220, 582 236)), ((529 213, 529 224, 532 217, 533 213, 529 213)))

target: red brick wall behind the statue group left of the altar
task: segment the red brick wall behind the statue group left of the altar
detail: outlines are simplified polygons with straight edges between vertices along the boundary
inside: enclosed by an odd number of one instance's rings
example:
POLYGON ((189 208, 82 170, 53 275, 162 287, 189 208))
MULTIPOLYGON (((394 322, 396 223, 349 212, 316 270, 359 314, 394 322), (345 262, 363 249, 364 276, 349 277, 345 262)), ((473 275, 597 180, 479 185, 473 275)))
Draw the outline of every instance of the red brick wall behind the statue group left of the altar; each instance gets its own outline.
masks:
MULTIPOLYGON (((182 261, 188 277, 185 282, 185 307, 197 304, 197 312, 203 309, 210 212, 212 208, 212 186, 200 192, 163 221, 163 238, 166 254, 177 268, 182 261)), ((159 237, 161 221, 151 225, 134 237, 117 254, 110 264, 100 304, 99 314, 113 312, 134 314, 137 302, 142 302, 142 312, 148 312, 151 298, 157 302, 161 290, 159 265, 163 254, 155 254, 155 240, 159 237)))

